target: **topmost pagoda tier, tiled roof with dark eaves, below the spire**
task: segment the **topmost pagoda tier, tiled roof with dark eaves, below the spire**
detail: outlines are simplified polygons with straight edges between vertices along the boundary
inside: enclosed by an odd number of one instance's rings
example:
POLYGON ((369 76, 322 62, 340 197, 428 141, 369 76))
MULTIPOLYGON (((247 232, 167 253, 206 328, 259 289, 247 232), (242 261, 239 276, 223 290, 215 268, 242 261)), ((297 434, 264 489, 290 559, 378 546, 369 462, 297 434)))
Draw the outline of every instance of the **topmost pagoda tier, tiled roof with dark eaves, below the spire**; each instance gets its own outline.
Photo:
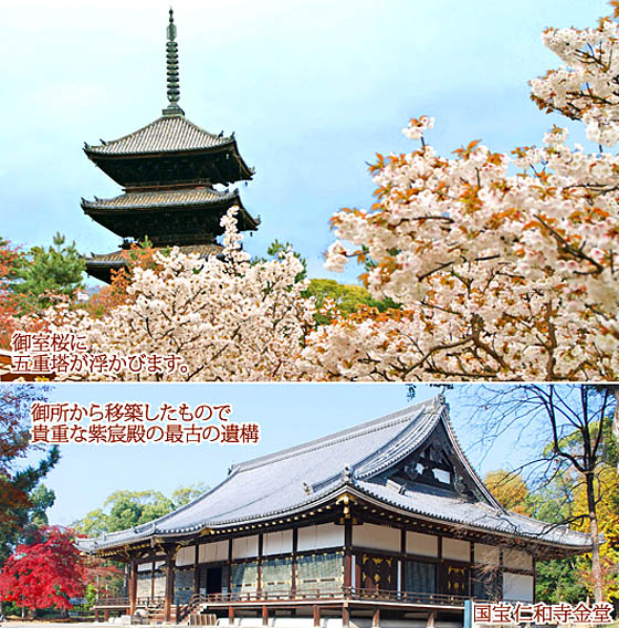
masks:
POLYGON ((234 134, 213 135, 182 112, 164 115, 112 142, 84 147, 88 159, 128 189, 207 185, 250 180, 234 134))

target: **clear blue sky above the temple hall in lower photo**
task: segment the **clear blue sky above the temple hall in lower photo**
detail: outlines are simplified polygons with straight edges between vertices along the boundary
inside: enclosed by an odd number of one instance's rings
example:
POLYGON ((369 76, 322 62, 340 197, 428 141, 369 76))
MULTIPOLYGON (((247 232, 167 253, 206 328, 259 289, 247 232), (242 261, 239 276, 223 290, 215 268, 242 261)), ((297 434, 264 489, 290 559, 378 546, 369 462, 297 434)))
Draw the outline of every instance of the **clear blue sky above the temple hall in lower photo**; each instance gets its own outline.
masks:
MULTIPOLYGON (((413 402, 434 397, 437 388, 419 385, 413 402)), ((473 465, 482 474, 515 465, 526 452, 514 451, 513 438, 499 439, 490 451, 475 446, 480 432, 471 429, 471 387, 448 390, 455 433, 473 465)), ((114 401, 164 401, 195 408, 199 404, 231 404, 234 422, 256 422, 255 446, 94 446, 63 444, 61 461, 44 484, 56 502, 50 522, 69 525, 101 507, 112 492, 159 490, 170 495, 179 485, 204 482, 213 486, 229 467, 301 442, 327 436, 407 407, 402 384, 80 384, 56 385, 50 401, 81 405, 114 401)), ((522 460, 521 460, 522 461, 522 460)))

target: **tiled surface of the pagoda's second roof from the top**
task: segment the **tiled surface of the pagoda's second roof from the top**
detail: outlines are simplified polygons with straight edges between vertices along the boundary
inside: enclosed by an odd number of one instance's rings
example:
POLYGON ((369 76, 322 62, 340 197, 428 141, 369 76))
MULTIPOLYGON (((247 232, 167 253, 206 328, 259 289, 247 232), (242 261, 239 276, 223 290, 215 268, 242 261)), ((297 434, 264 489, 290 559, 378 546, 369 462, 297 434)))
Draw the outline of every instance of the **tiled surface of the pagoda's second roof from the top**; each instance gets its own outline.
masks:
POLYGON ((82 208, 87 209, 154 209, 159 207, 187 207, 237 202, 239 190, 218 191, 212 188, 191 188, 166 191, 128 192, 109 199, 85 200, 82 208))

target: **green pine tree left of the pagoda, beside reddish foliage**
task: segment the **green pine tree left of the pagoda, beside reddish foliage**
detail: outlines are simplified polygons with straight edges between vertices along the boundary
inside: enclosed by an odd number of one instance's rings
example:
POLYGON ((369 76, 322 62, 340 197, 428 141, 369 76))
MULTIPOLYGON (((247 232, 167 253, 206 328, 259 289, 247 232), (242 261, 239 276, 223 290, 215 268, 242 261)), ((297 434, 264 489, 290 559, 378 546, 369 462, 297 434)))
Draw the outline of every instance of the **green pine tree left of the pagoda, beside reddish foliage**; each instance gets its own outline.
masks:
POLYGON ((66 244, 64 236, 56 233, 51 247, 33 247, 20 258, 11 290, 22 295, 24 311, 46 307, 50 293, 72 296, 81 290, 85 270, 75 242, 66 244))

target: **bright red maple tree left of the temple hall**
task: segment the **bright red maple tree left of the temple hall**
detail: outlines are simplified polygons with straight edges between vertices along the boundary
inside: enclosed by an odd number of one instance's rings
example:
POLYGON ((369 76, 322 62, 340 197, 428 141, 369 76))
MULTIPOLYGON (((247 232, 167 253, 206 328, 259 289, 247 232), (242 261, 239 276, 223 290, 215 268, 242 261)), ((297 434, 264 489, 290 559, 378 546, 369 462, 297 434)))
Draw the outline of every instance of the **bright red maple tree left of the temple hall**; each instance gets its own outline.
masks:
POLYGON ((72 530, 51 526, 41 528, 38 543, 18 545, 0 572, 0 598, 31 609, 71 608, 87 579, 74 537, 72 530))

